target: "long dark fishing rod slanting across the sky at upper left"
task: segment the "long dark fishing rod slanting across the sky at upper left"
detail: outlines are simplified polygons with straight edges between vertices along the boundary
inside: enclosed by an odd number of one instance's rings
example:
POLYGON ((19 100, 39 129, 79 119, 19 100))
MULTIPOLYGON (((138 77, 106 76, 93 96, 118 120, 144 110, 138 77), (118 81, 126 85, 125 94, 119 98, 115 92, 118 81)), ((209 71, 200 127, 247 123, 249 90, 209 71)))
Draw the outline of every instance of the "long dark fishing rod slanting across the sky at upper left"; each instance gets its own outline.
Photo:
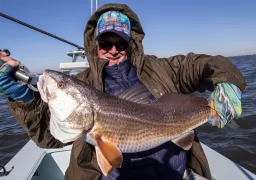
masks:
POLYGON ((46 31, 44 31, 44 30, 42 30, 42 29, 36 28, 36 27, 34 27, 34 26, 30 25, 30 24, 24 23, 24 22, 22 22, 22 21, 20 21, 20 20, 18 20, 18 19, 15 19, 15 18, 13 18, 13 17, 10 17, 10 16, 8 16, 8 15, 6 15, 6 14, 3 14, 3 13, 1 13, 1 12, 0 12, 0 16, 2 16, 3 18, 6 18, 6 19, 8 19, 8 20, 11 20, 11 21, 13 21, 13 22, 16 22, 16 23, 18 23, 18 24, 21 24, 21 25, 23 25, 23 26, 26 26, 26 27, 28 27, 28 28, 30 28, 30 29, 33 29, 33 30, 35 30, 35 31, 37 31, 37 32, 40 32, 40 33, 43 33, 43 34, 45 34, 45 35, 47 35, 47 36, 50 36, 50 37, 52 37, 52 38, 55 38, 55 39, 57 39, 57 40, 59 40, 59 41, 62 41, 62 42, 64 42, 64 43, 67 43, 67 44, 69 44, 69 45, 71 45, 71 46, 74 46, 74 47, 76 47, 78 50, 83 50, 83 49, 84 49, 82 46, 79 46, 79 45, 77 45, 77 44, 74 44, 74 43, 72 43, 72 42, 70 42, 70 41, 67 41, 67 40, 65 40, 65 39, 63 39, 63 38, 60 38, 60 37, 58 37, 58 36, 55 36, 55 35, 53 35, 53 34, 51 34, 51 33, 48 33, 48 32, 46 32, 46 31))

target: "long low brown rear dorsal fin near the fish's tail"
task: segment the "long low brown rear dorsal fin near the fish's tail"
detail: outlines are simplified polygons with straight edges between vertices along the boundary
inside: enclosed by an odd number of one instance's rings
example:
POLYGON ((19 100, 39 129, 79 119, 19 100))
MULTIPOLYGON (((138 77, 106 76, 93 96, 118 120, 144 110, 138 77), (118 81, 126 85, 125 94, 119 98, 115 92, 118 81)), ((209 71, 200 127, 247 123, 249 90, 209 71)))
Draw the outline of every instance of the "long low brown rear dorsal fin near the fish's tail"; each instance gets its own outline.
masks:
POLYGON ((170 106, 208 106, 208 101, 205 98, 179 94, 179 93, 166 93, 161 96, 154 104, 168 104, 170 106))

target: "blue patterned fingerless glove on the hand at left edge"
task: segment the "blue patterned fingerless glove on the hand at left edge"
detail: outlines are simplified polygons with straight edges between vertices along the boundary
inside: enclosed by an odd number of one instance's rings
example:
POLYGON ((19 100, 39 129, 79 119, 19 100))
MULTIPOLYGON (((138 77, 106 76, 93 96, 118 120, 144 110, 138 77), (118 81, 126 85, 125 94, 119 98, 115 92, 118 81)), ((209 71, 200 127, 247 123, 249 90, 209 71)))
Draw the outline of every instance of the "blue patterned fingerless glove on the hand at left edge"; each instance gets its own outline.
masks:
POLYGON ((20 85, 11 75, 13 67, 0 59, 0 93, 13 100, 28 103, 33 99, 33 92, 26 85, 20 85))

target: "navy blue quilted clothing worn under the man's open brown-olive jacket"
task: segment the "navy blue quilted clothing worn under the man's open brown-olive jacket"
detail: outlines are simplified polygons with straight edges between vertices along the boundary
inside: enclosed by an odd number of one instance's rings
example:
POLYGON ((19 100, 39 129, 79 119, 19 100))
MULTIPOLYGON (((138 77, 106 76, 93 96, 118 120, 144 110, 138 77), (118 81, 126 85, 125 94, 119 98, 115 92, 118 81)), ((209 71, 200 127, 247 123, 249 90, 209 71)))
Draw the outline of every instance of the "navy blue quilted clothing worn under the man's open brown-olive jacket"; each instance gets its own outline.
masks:
MULTIPOLYGON (((141 83, 130 59, 119 65, 106 66, 103 70, 103 82, 104 91, 114 96, 141 83)), ((149 97, 152 100, 154 98, 150 92, 149 97)), ((167 142, 148 151, 123 153, 122 168, 114 169, 107 177, 102 176, 102 179, 179 180, 183 179, 186 167, 186 151, 172 142, 167 142)))

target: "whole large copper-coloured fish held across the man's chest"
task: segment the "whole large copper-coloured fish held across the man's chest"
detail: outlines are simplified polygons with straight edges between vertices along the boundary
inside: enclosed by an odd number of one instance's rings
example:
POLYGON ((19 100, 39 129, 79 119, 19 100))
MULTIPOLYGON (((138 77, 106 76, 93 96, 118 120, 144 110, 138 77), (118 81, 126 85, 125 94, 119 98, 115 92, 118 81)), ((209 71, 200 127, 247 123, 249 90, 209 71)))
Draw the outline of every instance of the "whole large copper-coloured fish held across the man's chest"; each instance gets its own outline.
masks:
POLYGON ((46 70, 38 89, 51 111, 50 131, 62 142, 83 136, 95 146, 104 175, 121 167, 122 153, 145 151, 172 141, 188 150, 193 129, 207 122, 207 100, 177 93, 149 103, 147 89, 135 85, 118 97, 60 72, 46 70))

